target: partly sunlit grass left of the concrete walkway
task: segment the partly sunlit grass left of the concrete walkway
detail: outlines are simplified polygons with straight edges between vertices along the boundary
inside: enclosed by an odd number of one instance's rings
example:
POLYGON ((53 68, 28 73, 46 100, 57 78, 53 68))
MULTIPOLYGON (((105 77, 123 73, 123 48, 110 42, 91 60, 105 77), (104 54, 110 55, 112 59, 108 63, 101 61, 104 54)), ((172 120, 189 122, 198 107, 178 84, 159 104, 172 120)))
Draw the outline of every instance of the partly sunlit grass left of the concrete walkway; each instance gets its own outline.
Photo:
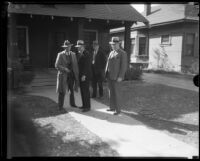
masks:
MULTIPOLYGON (((57 103, 49 98, 12 95, 24 115, 30 116, 38 132, 37 156, 118 156, 108 144, 88 131, 70 114, 59 112, 57 103)), ((23 141, 23 137, 18 137, 23 141)))

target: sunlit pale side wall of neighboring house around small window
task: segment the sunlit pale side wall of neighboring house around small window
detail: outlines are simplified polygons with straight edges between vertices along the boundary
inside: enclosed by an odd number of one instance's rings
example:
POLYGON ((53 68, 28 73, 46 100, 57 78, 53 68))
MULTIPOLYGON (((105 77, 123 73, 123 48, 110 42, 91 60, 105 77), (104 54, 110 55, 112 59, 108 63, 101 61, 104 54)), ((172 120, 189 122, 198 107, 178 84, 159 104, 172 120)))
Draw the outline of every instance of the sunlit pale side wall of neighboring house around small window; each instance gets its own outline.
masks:
POLYGON ((184 28, 180 26, 171 24, 154 27, 149 31, 149 69, 181 71, 184 28), (169 44, 161 44, 162 35, 169 35, 169 44))

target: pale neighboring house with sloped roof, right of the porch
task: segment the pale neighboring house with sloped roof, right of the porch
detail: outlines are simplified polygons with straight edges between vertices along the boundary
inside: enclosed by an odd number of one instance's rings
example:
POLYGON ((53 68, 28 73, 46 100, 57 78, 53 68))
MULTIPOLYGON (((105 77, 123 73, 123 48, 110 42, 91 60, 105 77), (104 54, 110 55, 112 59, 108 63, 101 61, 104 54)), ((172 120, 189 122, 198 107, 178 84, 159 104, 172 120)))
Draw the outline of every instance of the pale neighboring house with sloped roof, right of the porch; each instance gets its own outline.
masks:
MULTIPOLYGON (((191 4, 145 5, 149 25, 131 27, 131 62, 148 69, 199 72, 199 8, 191 4)), ((111 30, 123 40, 124 29, 111 30)))

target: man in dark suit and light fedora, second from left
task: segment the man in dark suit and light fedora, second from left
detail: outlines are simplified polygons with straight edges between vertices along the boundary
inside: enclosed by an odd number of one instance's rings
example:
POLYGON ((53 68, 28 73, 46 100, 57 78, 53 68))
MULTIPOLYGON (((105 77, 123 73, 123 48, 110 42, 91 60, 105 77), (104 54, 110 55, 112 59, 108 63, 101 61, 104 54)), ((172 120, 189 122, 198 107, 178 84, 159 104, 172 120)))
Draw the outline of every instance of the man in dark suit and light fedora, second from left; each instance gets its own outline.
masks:
POLYGON ((78 40, 77 45, 79 59, 79 82, 80 82, 80 91, 83 106, 80 107, 82 112, 87 112, 91 108, 90 103, 90 90, 89 84, 91 79, 91 56, 87 50, 85 50, 85 45, 83 40, 78 40))

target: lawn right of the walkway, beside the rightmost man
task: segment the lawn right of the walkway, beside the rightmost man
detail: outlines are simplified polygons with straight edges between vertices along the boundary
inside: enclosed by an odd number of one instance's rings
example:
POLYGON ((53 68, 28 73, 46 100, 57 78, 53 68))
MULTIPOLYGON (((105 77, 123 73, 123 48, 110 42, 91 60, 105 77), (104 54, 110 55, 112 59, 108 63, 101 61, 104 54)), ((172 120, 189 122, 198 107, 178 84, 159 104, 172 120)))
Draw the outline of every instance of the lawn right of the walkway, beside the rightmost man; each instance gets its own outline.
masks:
MULTIPOLYGON (((109 106, 107 85, 104 87, 104 97, 96 100, 109 106)), ((122 89, 122 112, 198 147, 198 92, 143 81, 124 81, 122 89)))

